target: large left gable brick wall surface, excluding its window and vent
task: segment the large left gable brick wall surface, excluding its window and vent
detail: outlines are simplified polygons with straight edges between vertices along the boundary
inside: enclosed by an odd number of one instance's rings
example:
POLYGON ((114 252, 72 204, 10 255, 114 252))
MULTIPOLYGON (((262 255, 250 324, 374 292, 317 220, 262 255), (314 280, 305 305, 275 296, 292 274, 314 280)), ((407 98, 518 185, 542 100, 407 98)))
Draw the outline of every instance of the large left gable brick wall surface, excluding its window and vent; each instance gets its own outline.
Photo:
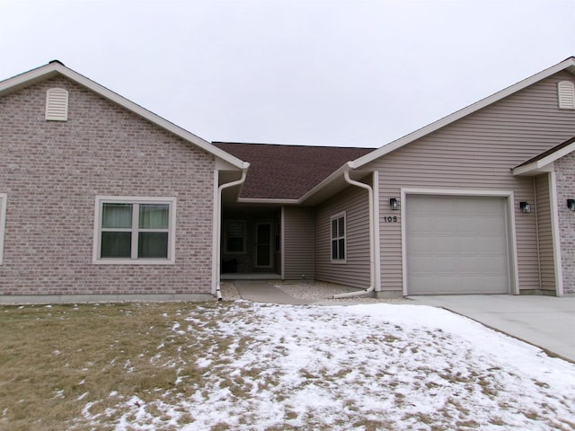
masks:
POLYGON ((62 77, 0 98, 0 295, 209 293, 214 156, 62 77), (46 121, 46 91, 69 92, 46 121), (96 195, 176 197, 175 265, 93 265, 96 195))

